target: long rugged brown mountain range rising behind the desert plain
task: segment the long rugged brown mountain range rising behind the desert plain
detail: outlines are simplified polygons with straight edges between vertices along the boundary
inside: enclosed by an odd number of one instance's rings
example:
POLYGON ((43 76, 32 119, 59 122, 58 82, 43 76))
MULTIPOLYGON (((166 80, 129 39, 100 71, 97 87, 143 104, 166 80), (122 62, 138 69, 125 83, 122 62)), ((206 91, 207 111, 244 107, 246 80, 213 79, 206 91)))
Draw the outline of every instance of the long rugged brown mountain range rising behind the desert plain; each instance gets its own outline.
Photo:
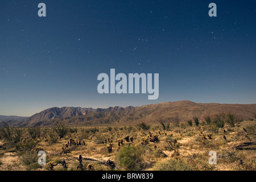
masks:
POLYGON ((34 114, 25 121, 15 122, 19 127, 53 126, 56 121, 68 126, 135 125, 139 122, 156 123, 160 118, 166 122, 180 122, 218 113, 234 113, 239 119, 254 118, 256 104, 202 104, 191 101, 163 102, 140 107, 109 107, 92 109, 82 107, 52 107, 34 114))

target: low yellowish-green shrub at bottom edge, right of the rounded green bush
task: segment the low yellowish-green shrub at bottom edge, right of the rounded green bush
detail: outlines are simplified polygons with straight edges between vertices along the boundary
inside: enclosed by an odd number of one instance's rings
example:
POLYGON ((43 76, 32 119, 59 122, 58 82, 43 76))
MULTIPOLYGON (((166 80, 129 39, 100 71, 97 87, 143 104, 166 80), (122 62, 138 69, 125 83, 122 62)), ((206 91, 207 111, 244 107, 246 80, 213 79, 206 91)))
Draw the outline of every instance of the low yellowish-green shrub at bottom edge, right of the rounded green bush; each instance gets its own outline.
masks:
POLYGON ((182 160, 169 159, 155 164, 155 171, 192 171, 192 167, 182 160))

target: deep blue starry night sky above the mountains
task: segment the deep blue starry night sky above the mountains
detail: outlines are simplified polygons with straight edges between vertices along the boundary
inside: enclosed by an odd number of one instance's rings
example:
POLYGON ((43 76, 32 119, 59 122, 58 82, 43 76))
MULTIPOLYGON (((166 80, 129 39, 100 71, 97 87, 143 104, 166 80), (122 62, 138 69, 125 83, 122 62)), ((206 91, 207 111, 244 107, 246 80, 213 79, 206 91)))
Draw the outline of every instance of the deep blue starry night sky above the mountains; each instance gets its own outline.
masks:
POLYGON ((0 114, 190 100, 256 103, 256 1, 0 2, 0 114), (46 4, 46 17, 38 4, 46 4), (209 3, 217 17, 209 17, 209 3), (99 94, 100 73, 159 73, 159 98, 99 94))

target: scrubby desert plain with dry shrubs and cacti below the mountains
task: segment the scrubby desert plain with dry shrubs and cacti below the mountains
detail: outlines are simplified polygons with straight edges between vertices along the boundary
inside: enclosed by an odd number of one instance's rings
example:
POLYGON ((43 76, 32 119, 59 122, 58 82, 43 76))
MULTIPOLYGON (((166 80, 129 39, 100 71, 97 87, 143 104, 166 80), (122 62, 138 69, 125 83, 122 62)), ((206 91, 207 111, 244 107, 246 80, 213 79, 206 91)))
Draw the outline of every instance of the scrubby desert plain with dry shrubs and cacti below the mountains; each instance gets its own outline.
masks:
MULTIPOLYGON (((97 117, 100 117, 97 116, 97 117)), ((255 170, 256 120, 236 114, 201 121, 159 118, 130 126, 0 128, 1 170, 255 170), (38 164, 38 152, 46 164, 38 164), (217 164, 209 164, 216 151, 217 164)))

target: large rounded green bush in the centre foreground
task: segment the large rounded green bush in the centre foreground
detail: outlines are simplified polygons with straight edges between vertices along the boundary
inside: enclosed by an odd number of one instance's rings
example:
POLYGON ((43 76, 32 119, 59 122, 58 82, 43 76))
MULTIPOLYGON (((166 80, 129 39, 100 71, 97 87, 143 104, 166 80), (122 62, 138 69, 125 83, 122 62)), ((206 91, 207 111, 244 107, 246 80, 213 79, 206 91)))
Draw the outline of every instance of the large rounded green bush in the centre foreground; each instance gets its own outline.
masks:
POLYGON ((127 146, 118 151, 117 160, 121 167, 130 171, 142 169, 142 154, 141 146, 127 146))

